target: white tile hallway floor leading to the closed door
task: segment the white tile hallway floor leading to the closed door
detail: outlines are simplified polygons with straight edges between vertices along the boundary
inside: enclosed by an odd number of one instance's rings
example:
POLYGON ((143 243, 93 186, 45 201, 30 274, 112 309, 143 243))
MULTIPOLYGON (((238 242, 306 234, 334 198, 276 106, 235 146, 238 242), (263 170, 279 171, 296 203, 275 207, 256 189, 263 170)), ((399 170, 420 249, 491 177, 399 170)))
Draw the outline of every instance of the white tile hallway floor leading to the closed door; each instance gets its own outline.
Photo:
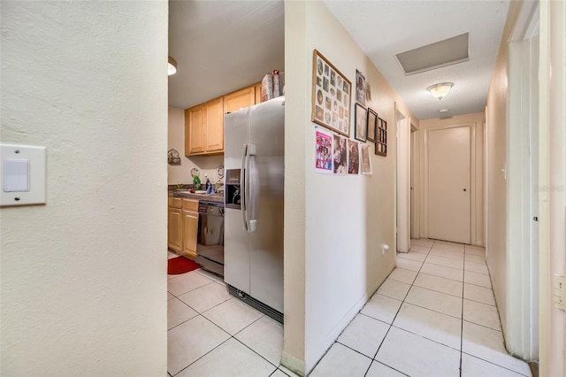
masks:
POLYGON ((531 376, 509 356, 486 250, 411 240, 311 376, 531 376))

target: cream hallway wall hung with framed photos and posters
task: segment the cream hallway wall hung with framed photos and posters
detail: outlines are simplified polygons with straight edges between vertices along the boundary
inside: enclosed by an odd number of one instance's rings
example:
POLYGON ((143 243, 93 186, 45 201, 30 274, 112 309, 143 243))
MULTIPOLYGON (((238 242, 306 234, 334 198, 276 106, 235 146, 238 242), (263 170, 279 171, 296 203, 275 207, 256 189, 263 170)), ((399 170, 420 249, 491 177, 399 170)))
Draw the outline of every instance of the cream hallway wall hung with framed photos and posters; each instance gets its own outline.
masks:
MULTIPOLYGON (((283 361, 309 372, 394 268, 394 102, 417 124, 356 42, 321 2, 286 2, 285 344, 283 361), (371 176, 314 172, 312 54, 349 81, 370 81, 370 107, 389 126, 387 157, 371 176), (303 189, 304 188, 304 189, 303 189), (381 245, 390 245, 381 255, 381 245), (304 280, 304 288, 302 281, 304 280), (304 317, 304 322, 302 322, 304 317), (304 362, 304 365, 301 365, 304 362)), ((379 37, 379 35, 376 35, 379 37)), ((385 36, 384 36, 385 37, 385 36)), ((352 103, 352 112, 354 103, 352 103)), ((353 121, 350 121, 354 138, 353 121)))

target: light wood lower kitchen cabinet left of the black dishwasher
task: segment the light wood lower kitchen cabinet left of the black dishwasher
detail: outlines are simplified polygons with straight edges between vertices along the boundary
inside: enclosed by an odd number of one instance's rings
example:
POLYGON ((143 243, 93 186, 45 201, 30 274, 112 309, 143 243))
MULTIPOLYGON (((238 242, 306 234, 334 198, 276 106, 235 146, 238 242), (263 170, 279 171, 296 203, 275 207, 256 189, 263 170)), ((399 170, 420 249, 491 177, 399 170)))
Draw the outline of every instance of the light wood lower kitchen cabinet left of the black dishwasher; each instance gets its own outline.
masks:
POLYGON ((169 198, 167 246, 180 255, 195 260, 198 232, 198 200, 169 198))

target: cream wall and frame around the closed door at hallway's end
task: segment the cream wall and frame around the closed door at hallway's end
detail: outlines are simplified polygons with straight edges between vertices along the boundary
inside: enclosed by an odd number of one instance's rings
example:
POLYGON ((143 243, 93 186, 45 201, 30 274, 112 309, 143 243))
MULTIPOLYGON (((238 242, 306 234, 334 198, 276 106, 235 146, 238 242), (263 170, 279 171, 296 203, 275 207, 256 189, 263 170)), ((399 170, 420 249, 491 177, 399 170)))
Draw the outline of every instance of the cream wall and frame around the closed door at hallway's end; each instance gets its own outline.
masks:
POLYGON ((458 115, 455 117, 445 119, 425 119, 420 121, 420 127, 417 131, 419 151, 418 158, 418 171, 419 171, 419 184, 418 188, 420 195, 420 236, 426 238, 426 188, 425 177, 427 173, 426 167, 426 140, 425 134, 427 130, 442 127, 452 127, 458 125, 470 125, 470 235, 471 244, 484 246, 484 200, 483 200, 483 185, 484 185, 484 125, 483 113, 477 112, 473 114, 458 115))

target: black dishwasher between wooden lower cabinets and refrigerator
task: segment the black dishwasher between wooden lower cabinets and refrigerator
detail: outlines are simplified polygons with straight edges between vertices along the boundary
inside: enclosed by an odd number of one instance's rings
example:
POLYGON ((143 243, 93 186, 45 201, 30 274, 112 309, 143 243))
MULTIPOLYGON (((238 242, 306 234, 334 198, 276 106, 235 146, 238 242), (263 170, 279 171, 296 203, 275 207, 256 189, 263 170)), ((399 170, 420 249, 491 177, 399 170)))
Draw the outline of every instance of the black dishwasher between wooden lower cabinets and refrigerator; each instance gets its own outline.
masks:
POLYGON ((199 201, 196 263, 224 277, 224 204, 199 201))

